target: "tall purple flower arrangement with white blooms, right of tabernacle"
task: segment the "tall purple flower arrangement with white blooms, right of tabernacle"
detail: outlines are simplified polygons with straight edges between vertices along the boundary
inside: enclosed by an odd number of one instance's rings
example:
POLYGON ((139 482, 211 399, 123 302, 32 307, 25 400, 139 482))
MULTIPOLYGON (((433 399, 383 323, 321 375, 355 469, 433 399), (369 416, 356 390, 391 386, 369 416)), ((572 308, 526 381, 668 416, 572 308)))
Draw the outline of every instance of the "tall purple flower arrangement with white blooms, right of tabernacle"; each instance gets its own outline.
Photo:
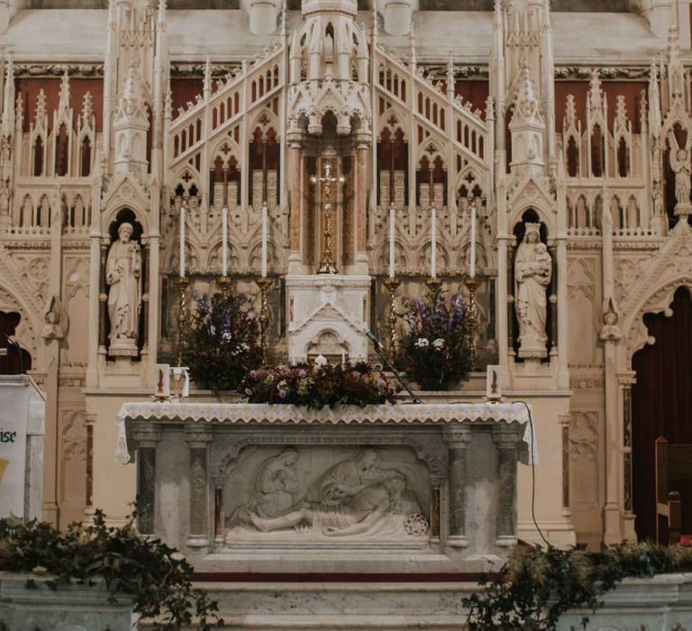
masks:
POLYGON ((396 363, 423 390, 445 390, 465 380, 471 368, 470 319, 466 302, 450 304, 437 292, 417 298, 403 316, 407 332, 398 344, 396 363))

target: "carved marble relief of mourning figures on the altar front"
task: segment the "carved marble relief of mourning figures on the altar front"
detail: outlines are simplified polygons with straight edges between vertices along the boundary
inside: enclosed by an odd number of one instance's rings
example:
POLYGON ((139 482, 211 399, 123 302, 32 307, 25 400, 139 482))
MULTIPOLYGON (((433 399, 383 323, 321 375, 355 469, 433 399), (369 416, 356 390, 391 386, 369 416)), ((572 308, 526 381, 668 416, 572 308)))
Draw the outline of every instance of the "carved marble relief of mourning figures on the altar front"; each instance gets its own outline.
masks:
POLYGON ((411 449, 250 446, 225 472, 229 547, 428 542, 430 476, 411 449))

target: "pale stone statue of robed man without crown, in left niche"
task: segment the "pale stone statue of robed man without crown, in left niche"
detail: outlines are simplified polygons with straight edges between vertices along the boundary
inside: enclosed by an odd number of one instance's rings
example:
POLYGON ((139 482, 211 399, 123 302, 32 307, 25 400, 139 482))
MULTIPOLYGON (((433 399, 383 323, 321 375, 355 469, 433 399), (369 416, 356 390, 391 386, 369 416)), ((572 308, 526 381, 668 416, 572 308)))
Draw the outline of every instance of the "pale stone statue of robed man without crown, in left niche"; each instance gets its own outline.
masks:
POLYGON ((108 291, 108 316, 111 321, 110 349, 114 356, 137 354, 137 334, 141 306, 140 244, 132 241, 132 224, 123 222, 118 228, 105 261, 105 282, 108 291))

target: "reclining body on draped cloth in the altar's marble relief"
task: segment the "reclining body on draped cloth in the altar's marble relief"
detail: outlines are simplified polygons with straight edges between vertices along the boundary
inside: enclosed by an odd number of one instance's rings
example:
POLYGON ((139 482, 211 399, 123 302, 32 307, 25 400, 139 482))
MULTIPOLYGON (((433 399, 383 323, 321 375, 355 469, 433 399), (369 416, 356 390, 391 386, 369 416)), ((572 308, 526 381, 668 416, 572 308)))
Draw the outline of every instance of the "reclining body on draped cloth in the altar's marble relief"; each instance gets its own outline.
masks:
POLYGON ((265 532, 305 523, 327 536, 427 534, 418 499, 406 489, 401 471, 390 470, 378 482, 351 485, 348 493, 335 505, 308 505, 270 519, 253 514, 250 519, 265 532))

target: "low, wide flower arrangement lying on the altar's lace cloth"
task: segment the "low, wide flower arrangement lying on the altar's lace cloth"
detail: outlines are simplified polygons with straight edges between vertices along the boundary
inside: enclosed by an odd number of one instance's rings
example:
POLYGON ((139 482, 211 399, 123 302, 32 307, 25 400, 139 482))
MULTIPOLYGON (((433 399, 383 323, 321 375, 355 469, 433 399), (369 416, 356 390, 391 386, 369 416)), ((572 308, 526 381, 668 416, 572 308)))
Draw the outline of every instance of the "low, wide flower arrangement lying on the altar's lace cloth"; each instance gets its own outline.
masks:
POLYGON ((332 366, 322 356, 314 363, 250 370, 241 385, 250 403, 291 403, 315 409, 394 403, 393 389, 381 367, 360 362, 332 366))

